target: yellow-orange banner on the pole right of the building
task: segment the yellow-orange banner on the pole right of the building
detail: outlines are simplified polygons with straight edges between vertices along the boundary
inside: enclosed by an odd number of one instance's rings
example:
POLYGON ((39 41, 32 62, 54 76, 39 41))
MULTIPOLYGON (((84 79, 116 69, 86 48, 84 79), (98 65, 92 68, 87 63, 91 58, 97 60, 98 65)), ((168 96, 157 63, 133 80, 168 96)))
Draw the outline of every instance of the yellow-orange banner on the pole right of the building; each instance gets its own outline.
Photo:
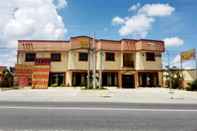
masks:
POLYGON ((187 60, 192 60, 195 58, 195 49, 191 49, 185 52, 181 52, 181 60, 182 61, 187 61, 187 60))

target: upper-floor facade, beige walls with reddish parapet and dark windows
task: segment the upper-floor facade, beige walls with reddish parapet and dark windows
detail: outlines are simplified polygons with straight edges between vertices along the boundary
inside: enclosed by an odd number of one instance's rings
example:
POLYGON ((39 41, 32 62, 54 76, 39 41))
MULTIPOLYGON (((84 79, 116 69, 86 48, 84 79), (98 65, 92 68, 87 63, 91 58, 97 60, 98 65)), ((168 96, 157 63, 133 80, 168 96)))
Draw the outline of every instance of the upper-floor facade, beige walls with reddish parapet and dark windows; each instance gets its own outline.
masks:
POLYGON ((97 70, 161 70, 164 51, 163 41, 147 39, 19 40, 17 64, 34 65, 36 59, 46 58, 51 61, 51 72, 87 70, 95 54, 97 70))

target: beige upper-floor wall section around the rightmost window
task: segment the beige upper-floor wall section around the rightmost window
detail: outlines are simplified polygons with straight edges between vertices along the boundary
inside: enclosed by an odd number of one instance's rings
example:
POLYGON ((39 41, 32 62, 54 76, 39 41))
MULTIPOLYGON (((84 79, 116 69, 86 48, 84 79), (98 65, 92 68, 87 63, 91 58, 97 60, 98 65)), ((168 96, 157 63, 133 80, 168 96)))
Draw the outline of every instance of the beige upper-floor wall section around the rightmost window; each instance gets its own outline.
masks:
POLYGON ((161 70, 161 57, 155 57, 155 61, 146 61, 146 53, 137 52, 135 67, 137 70, 161 70))

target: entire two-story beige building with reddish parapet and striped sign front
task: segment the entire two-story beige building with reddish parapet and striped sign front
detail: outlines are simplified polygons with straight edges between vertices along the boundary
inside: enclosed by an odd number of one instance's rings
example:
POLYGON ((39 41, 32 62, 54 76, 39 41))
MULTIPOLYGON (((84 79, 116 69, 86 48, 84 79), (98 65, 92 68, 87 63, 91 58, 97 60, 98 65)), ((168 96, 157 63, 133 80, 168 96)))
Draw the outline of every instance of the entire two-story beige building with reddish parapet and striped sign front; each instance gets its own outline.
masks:
POLYGON ((93 52, 97 78, 102 73, 103 86, 163 85, 163 41, 88 36, 71 37, 69 41, 19 40, 16 79, 19 85, 33 88, 85 86, 88 69, 90 74, 93 70, 93 52))

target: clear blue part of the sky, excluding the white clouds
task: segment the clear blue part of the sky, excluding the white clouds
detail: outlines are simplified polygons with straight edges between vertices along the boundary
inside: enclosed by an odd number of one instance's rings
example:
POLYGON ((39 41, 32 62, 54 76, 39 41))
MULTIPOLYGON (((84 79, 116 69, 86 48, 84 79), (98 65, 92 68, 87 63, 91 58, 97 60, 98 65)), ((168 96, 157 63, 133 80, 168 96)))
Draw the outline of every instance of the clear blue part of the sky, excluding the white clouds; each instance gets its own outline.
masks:
MULTIPOLYGON (((98 38, 121 39, 135 38, 132 35, 120 36, 117 26, 112 25, 115 16, 132 16, 133 12, 128 12, 130 6, 140 3, 158 3, 158 0, 70 0, 68 7, 60 11, 63 16, 65 26, 68 29, 66 37, 73 35, 88 35, 96 33, 98 38)), ((178 36, 184 40, 184 45, 179 49, 189 49, 197 47, 197 1, 195 0, 160 0, 159 3, 168 3, 175 8, 172 15, 158 18, 152 25, 146 38, 164 39, 178 36)), ((174 47, 171 47, 174 49, 174 47)))

